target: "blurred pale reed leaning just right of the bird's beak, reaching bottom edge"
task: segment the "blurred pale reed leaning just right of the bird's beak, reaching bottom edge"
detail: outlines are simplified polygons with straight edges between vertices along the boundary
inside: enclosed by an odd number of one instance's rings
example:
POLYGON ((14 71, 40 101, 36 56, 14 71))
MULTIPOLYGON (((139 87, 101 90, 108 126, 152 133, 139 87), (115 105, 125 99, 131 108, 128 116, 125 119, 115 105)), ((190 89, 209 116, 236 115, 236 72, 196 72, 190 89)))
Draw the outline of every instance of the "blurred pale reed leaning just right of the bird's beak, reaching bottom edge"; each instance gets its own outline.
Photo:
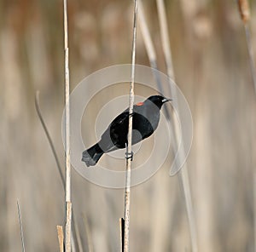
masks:
MULTIPOLYGON (((170 47, 170 39, 169 39, 167 19, 166 19, 166 8, 163 0, 156 0, 156 3, 157 3, 157 9, 158 9, 158 16, 160 19, 160 35, 161 35, 161 43, 162 43, 165 60, 166 60, 167 75, 168 77, 174 79, 174 72, 173 72, 173 65, 172 65, 172 51, 170 47)), ((172 89, 172 85, 170 86, 171 86, 172 97, 177 102, 176 90, 172 89)), ((177 107, 177 110, 178 110, 178 107, 177 107)), ((178 129, 179 129, 177 120, 173 120, 173 126, 174 126, 174 132, 176 137, 175 142, 177 144, 178 142, 177 135, 178 135, 178 129)), ((181 146, 181 151, 183 152, 183 155, 181 155, 181 157, 185 157, 183 146, 181 146)), ((198 244, 197 244, 197 232, 196 232, 196 226, 195 226, 195 214, 194 214, 194 209, 192 205, 191 190, 189 186, 189 175, 188 175, 188 169, 187 169, 186 163, 184 163, 183 169, 181 169, 178 172, 178 179, 180 180, 180 184, 182 185, 183 194, 184 194, 185 203, 186 203, 186 210, 187 210, 187 215, 189 220, 189 233, 191 238, 191 247, 192 247, 192 251, 196 252, 198 251, 198 244)))

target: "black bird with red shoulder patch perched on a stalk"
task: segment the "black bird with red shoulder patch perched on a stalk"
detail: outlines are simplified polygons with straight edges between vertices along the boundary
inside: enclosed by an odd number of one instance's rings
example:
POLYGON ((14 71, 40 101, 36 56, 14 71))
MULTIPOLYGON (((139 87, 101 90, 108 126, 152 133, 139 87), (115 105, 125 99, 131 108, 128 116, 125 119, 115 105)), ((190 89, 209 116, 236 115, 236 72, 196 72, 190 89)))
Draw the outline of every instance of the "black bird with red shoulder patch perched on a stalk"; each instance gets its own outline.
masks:
MULTIPOLYGON (((132 113, 132 145, 154 133, 160 120, 161 106, 171 99, 160 95, 152 95, 147 100, 133 106, 132 113)), ((96 165, 104 153, 123 149, 128 144, 129 108, 113 119, 101 140, 83 152, 82 161, 86 165, 96 165)))

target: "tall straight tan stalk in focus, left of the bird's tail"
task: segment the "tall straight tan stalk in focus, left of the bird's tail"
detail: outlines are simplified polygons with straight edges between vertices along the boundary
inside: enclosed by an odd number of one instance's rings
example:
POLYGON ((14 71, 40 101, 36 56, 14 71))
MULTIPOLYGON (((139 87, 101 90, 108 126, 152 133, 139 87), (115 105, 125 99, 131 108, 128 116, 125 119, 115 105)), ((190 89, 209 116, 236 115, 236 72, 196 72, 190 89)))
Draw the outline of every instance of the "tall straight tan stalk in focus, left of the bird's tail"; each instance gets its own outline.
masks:
POLYGON ((65 56, 65 170, 66 170, 66 225, 65 251, 71 251, 72 237, 72 203, 71 203, 71 165, 70 165, 70 105, 69 105, 69 62, 68 62, 68 31, 67 31, 67 0, 63 0, 64 10, 64 56, 65 56))

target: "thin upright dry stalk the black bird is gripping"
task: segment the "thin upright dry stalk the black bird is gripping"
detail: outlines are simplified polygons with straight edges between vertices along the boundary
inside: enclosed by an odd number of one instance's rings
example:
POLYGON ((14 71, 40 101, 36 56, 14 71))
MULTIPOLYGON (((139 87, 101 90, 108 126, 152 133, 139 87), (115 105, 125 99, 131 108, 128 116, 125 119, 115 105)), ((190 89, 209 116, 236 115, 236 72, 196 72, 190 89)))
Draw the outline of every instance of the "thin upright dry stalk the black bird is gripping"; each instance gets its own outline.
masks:
POLYGON ((138 0, 134 1, 133 10, 133 38, 131 51, 131 83, 129 95, 129 126, 128 126, 128 145, 126 147, 126 172, 125 172, 125 231, 124 231, 124 252, 129 252, 129 229, 130 229, 130 204, 131 204, 131 136, 132 136, 132 112, 134 103, 134 78, 135 78, 135 59, 136 59, 136 40, 137 40, 137 6, 138 0))

